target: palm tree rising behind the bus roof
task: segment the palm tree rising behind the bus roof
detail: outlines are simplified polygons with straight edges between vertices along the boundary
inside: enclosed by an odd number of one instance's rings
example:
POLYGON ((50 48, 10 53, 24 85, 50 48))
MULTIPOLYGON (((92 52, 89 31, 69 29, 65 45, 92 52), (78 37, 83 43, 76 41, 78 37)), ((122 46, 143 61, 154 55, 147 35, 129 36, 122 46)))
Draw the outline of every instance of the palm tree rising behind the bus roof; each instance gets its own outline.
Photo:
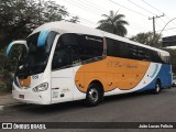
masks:
POLYGON ((112 10, 110 11, 110 15, 102 14, 105 20, 100 20, 98 23, 100 24, 97 29, 102 31, 113 33, 120 36, 125 36, 128 31, 124 25, 129 25, 127 21, 123 20, 124 14, 118 14, 118 11, 114 13, 112 10))

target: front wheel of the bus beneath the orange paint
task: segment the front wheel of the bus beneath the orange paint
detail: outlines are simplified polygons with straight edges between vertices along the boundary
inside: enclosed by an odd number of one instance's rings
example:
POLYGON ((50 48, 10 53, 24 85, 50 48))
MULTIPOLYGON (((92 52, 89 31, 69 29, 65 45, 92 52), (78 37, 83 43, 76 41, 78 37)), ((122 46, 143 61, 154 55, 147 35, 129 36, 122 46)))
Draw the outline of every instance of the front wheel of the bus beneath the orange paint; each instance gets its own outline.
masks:
POLYGON ((87 90, 86 105, 89 107, 97 106, 101 101, 102 96, 100 87, 96 84, 91 84, 87 90))

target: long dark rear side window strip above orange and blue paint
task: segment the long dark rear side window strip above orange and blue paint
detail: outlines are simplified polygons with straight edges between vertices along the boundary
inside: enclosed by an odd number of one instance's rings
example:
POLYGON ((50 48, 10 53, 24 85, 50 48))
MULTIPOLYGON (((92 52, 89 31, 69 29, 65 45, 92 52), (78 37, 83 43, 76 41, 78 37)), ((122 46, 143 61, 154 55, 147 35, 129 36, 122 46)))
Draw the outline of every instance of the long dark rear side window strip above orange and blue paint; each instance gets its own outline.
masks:
POLYGON ((108 56, 169 64, 169 56, 161 55, 156 51, 112 38, 106 38, 106 42, 108 56))

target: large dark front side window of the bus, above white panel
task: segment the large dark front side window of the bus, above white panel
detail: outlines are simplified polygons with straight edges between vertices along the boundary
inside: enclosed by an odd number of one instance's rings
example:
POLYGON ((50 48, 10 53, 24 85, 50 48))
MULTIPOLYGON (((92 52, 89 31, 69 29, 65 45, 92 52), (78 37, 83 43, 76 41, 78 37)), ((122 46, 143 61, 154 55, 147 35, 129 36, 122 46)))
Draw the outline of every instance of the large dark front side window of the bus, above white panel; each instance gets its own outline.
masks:
POLYGON ((90 58, 102 56, 101 37, 82 34, 63 34, 56 45, 52 68, 70 67, 90 58))

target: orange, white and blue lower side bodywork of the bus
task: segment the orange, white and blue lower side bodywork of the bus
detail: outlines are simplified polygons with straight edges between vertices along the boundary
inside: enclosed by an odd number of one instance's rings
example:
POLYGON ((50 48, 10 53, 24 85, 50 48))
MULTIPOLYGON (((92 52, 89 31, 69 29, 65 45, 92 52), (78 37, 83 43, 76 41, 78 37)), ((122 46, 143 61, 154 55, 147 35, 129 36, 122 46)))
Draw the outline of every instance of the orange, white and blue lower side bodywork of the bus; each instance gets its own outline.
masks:
POLYGON ((161 79, 163 87, 169 87, 170 66, 157 63, 107 57, 105 61, 81 66, 75 76, 75 84, 79 91, 86 92, 91 81, 99 80, 103 86, 105 95, 116 95, 154 89, 157 78, 161 79), (113 64, 112 62, 109 64, 112 59, 113 64), (127 62, 130 64, 127 64, 127 62), (120 70, 121 67, 123 67, 123 70, 120 70), (136 68, 136 70, 134 70, 134 68, 136 68), (167 77, 167 79, 165 79, 165 77, 167 77), (132 85, 132 82, 135 84, 132 85), (119 86, 129 87, 124 89, 119 86))

